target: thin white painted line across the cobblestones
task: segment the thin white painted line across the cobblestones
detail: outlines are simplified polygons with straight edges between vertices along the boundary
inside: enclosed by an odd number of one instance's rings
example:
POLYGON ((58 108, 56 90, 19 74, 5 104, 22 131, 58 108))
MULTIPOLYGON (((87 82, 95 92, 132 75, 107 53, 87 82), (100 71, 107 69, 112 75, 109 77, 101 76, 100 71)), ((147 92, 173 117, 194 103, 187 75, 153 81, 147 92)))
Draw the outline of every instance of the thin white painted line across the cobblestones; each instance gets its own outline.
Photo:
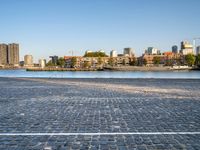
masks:
POLYGON ((199 135, 199 134, 200 134, 200 132, 0 133, 0 136, 199 135))

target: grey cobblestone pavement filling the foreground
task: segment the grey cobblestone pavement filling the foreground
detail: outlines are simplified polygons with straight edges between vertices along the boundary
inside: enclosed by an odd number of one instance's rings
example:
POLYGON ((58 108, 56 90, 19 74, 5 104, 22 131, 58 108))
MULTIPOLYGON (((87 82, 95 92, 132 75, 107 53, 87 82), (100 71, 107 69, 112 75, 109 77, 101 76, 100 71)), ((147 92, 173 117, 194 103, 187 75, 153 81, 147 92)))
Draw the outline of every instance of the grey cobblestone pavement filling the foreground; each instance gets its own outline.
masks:
POLYGON ((200 80, 0 78, 0 150, 200 149, 200 80))

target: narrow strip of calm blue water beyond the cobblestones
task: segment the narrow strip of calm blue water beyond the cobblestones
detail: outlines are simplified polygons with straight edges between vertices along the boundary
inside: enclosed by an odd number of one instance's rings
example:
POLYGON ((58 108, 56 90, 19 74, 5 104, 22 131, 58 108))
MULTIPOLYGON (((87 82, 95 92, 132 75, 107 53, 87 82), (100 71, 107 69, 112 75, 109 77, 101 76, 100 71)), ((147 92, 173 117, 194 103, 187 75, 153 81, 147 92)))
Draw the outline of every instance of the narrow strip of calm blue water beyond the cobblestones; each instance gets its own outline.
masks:
POLYGON ((27 72, 26 70, 0 70, 0 77, 34 77, 34 78, 188 78, 200 79, 200 71, 166 71, 166 72, 142 72, 142 71, 41 71, 27 72))

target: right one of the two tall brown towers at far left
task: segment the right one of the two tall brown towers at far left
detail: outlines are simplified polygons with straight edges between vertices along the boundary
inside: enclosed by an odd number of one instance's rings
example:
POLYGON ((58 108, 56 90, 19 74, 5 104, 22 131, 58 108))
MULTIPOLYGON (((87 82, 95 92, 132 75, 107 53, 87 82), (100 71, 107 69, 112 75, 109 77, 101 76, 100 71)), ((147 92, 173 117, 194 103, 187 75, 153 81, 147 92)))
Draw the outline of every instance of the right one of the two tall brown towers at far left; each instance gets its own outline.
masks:
POLYGON ((19 65, 19 44, 8 44, 8 64, 13 66, 19 65))

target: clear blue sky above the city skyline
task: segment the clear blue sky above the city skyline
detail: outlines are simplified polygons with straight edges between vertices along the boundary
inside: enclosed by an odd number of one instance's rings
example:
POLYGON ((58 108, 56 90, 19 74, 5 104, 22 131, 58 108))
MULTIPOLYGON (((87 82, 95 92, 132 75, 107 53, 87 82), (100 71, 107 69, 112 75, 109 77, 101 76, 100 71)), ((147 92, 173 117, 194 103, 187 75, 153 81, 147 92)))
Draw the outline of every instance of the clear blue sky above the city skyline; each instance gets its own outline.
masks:
POLYGON ((200 37, 200 0, 0 0, 0 43, 19 43, 20 58, 79 56, 86 50, 137 56, 200 37))

